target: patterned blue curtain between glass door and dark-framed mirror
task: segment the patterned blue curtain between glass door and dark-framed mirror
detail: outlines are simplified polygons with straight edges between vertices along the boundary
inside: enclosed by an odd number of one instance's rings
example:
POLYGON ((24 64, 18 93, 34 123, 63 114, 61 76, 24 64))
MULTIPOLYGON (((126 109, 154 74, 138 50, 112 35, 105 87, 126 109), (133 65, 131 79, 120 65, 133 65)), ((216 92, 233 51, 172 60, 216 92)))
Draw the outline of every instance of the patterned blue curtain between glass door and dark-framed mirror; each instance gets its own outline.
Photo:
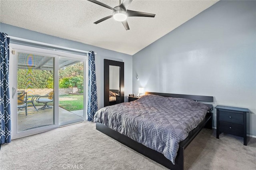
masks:
POLYGON ((93 121, 94 115, 98 110, 97 86, 96 86, 96 69, 94 51, 90 51, 88 57, 88 121, 93 121))

